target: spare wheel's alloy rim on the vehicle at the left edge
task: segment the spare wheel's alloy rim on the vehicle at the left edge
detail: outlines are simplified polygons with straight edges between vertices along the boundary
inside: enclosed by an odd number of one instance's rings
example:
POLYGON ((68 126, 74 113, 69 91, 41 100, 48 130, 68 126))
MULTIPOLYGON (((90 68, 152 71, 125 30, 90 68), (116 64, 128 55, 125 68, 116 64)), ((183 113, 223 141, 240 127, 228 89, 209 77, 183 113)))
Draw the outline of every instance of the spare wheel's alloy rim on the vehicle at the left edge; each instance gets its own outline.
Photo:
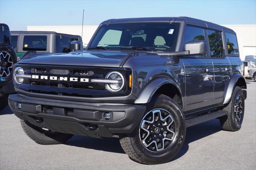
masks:
POLYGON ((8 77, 13 68, 13 61, 10 53, 6 51, 0 52, 0 76, 2 78, 8 77))

